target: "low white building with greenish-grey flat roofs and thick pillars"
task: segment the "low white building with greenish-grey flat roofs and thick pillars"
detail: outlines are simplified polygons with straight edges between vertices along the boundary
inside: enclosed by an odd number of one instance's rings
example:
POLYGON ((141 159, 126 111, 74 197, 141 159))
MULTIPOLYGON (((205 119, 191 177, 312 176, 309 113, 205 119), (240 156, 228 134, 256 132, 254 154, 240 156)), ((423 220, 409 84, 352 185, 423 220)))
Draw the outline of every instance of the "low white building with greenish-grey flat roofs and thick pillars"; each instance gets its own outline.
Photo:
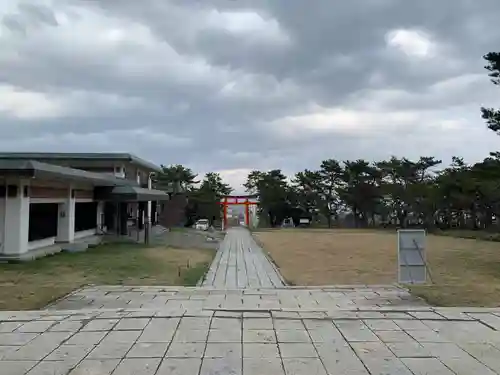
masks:
POLYGON ((130 154, 0 153, 0 259, 33 259, 156 223, 159 170, 130 154), (154 202, 154 204, 152 204, 154 202))

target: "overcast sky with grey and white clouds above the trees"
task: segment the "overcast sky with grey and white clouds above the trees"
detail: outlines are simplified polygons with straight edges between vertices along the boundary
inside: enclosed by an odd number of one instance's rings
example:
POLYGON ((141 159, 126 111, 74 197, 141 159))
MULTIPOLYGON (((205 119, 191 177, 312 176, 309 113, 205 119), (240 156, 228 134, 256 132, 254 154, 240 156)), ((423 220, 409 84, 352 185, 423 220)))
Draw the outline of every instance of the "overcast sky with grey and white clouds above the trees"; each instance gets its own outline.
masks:
POLYGON ((0 150, 218 171, 500 150, 499 0, 4 0, 0 150), (34 5, 36 4, 36 5, 34 5))

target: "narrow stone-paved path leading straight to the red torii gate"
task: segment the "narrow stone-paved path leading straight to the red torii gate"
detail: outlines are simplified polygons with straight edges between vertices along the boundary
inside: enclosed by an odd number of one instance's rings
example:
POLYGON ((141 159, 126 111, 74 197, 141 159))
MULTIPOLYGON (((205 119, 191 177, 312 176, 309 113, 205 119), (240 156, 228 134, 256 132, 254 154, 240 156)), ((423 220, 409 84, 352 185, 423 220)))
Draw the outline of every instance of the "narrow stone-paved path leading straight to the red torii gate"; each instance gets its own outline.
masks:
POLYGON ((283 287, 274 265, 244 228, 232 228, 220 245, 203 286, 216 288, 283 287))

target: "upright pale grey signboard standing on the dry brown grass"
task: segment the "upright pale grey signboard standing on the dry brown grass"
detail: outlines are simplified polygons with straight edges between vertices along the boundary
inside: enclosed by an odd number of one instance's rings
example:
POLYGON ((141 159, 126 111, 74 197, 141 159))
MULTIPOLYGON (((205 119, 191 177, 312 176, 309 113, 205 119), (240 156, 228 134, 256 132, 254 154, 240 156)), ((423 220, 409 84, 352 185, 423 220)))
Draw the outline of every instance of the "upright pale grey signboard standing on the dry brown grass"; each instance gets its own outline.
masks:
POLYGON ((401 284, 425 284, 427 263, 425 260, 425 230, 398 230, 398 282, 401 284))

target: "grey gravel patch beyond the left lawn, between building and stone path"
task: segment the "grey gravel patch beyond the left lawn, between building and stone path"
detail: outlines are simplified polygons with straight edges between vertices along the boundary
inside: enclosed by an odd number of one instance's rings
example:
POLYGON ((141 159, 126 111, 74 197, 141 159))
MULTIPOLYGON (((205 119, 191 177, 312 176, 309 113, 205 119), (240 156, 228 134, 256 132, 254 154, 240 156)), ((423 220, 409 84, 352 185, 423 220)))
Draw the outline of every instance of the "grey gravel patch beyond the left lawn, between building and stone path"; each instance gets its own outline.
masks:
POLYGON ((162 244, 180 249, 215 249, 224 238, 220 231, 199 231, 191 228, 175 228, 151 239, 152 244, 162 244))

